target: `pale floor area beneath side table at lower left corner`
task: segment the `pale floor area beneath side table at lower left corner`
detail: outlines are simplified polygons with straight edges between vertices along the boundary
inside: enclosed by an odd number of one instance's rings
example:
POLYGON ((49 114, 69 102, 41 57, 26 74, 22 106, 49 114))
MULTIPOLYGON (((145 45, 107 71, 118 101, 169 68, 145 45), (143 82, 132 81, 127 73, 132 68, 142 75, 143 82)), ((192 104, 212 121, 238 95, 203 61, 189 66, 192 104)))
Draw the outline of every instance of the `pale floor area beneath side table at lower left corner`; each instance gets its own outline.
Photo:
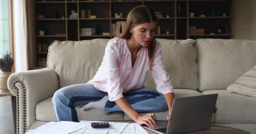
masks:
POLYGON ((11 97, 0 97, 0 134, 13 134, 11 97))

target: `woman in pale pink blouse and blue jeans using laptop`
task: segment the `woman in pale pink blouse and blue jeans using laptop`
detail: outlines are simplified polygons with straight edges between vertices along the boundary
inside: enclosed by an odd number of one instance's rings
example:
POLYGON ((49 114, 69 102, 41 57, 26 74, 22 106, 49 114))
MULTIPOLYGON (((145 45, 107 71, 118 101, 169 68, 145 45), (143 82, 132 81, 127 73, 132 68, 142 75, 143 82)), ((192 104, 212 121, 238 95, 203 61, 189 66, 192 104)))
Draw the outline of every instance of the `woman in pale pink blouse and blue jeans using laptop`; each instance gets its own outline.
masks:
POLYGON ((78 121, 82 110, 104 108, 105 113, 123 111, 137 124, 157 127, 156 116, 138 112, 171 112, 173 87, 163 65, 161 46, 154 39, 157 17, 147 6, 133 8, 125 31, 111 39, 96 75, 85 84, 61 88, 53 96, 58 121, 78 121), (144 88, 148 71, 157 85, 144 88))

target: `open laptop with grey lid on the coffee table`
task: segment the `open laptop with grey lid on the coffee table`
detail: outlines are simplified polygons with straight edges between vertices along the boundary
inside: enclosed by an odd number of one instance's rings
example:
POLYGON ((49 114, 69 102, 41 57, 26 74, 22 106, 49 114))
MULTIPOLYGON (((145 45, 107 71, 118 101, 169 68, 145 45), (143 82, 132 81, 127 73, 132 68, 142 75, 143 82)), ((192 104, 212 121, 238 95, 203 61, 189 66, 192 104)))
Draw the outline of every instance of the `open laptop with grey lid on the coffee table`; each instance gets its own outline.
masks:
POLYGON ((208 129, 218 94, 175 98, 168 124, 157 123, 157 127, 143 126, 158 134, 182 134, 208 129))

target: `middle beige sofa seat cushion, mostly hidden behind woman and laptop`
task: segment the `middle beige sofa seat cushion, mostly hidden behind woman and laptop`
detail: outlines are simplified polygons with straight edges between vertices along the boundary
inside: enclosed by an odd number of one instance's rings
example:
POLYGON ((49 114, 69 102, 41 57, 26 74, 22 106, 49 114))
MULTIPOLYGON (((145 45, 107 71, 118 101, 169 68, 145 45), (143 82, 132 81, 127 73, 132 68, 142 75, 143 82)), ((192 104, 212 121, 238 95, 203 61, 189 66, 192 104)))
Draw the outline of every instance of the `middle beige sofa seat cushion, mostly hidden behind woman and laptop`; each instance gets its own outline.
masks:
MULTIPOLYGON (((174 95, 175 98, 181 98, 181 97, 189 97, 189 96, 197 96, 197 95, 203 95, 202 93, 190 90, 190 89, 174 89, 174 95)), ((141 115, 145 115, 147 113, 140 113, 141 115)), ((157 117, 157 120, 166 120, 166 116, 168 115, 168 110, 163 112, 156 112, 155 116, 157 117)), ((127 114, 124 113, 124 120, 131 120, 127 114)))

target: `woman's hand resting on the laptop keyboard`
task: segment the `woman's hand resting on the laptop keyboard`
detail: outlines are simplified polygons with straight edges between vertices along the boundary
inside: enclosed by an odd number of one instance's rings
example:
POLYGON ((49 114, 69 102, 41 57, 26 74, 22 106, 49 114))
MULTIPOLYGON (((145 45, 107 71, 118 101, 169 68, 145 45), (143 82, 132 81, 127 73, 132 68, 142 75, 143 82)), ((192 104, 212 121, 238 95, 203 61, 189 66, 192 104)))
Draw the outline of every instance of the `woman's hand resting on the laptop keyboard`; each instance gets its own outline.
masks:
POLYGON ((149 127, 157 127, 157 118, 154 113, 148 113, 144 116, 138 116, 134 121, 139 124, 146 124, 149 127))

